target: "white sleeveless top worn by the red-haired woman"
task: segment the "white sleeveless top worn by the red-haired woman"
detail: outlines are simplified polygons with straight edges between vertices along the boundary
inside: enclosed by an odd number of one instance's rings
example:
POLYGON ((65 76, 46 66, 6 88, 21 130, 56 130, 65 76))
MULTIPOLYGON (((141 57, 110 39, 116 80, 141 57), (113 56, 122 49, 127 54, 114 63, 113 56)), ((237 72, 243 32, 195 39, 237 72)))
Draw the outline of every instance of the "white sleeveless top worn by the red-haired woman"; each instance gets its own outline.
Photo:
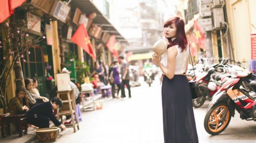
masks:
MULTIPOLYGON (((186 61, 189 58, 189 47, 187 47, 186 50, 183 50, 183 52, 181 52, 181 48, 178 47, 178 45, 175 45, 175 47, 177 48, 178 53, 176 56, 174 74, 183 74, 186 70, 186 61)), ((163 54, 161 63, 167 68, 167 51, 163 54)))

